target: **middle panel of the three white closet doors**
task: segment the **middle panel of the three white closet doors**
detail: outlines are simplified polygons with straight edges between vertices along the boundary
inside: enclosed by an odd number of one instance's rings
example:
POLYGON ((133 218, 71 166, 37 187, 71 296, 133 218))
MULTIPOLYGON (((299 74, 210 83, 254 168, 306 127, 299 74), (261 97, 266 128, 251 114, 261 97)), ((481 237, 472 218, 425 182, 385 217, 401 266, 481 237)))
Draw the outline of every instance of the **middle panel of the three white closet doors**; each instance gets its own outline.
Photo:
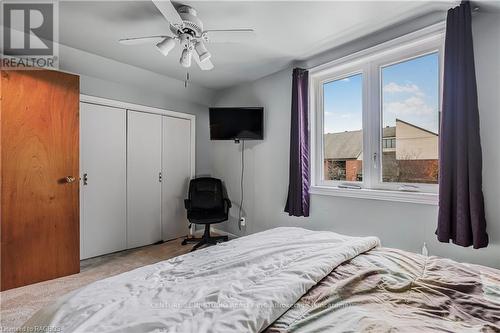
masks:
POLYGON ((161 240, 162 116, 127 111, 127 247, 161 240))

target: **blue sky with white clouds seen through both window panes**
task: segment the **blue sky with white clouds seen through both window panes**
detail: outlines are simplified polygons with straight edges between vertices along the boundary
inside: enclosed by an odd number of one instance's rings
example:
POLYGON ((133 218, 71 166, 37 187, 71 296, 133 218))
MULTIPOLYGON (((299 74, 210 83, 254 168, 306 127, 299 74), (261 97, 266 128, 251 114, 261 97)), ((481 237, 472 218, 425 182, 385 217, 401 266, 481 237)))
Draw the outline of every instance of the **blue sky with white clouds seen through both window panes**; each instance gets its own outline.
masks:
MULTIPOLYGON (((396 118, 437 133, 439 57, 425 55, 382 68, 382 123, 396 118)), ((323 86, 325 133, 362 129, 362 74, 323 86)))

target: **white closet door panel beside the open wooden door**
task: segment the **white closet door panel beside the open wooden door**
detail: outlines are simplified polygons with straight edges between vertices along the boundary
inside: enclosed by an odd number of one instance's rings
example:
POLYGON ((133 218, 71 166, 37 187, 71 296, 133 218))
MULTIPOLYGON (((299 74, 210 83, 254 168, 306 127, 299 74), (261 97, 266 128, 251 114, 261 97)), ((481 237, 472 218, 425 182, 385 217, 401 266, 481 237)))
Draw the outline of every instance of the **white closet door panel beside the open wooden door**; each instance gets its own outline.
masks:
POLYGON ((127 247, 127 113, 81 103, 81 258, 127 247))

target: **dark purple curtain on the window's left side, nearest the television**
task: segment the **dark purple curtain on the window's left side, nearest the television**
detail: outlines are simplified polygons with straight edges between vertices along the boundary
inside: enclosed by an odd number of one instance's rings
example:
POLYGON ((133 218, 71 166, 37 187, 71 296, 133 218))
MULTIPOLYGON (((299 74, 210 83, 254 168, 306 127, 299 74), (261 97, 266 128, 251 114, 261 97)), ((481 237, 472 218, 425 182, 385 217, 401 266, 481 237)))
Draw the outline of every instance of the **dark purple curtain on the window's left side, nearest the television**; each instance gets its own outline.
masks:
POLYGON ((291 216, 309 216, 309 73, 295 68, 292 80, 290 181, 285 212, 291 216))

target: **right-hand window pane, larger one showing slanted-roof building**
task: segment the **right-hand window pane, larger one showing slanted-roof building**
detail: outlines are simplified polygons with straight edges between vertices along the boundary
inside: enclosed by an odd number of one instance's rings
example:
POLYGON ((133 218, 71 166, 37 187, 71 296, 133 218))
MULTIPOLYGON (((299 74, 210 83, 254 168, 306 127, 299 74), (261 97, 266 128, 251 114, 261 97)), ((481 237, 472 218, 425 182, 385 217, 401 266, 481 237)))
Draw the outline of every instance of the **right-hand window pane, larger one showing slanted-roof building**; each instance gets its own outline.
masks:
POLYGON ((382 180, 437 183, 438 53, 383 67, 382 87, 382 180))

